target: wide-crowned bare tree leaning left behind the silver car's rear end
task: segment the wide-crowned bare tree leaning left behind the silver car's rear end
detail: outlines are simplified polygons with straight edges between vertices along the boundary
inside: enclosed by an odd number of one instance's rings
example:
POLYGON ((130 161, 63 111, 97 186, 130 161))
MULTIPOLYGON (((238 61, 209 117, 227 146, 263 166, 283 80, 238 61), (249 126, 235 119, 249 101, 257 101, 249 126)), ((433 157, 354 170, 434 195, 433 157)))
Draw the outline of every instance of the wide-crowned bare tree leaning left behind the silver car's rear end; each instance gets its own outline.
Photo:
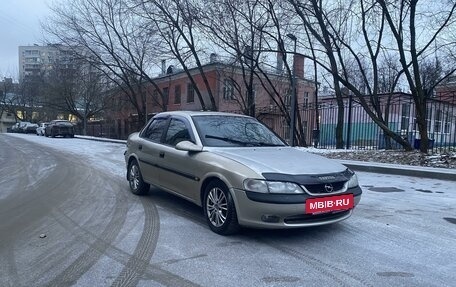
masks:
MULTIPOLYGON (((45 31, 103 72, 128 97, 138 119, 147 121, 146 84, 163 95, 149 76, 156 65, 154 51, 160 51, 152 45, 153 31, 145 30, 125 1, 76 0, 55 4, 52 11, 45 31)), ((166 110, 161 99, 156 104, 166 110)))

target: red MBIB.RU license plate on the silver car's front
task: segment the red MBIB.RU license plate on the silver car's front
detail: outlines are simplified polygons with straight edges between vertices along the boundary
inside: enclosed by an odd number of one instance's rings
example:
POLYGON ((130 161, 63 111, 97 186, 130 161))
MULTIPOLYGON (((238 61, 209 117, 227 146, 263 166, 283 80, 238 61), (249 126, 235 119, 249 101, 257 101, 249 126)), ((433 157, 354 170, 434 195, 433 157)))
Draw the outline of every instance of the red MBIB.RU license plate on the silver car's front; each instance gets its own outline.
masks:
POLYGON ((353 194, 309 198, 306 200, 306 214, 352 209, 353 194))

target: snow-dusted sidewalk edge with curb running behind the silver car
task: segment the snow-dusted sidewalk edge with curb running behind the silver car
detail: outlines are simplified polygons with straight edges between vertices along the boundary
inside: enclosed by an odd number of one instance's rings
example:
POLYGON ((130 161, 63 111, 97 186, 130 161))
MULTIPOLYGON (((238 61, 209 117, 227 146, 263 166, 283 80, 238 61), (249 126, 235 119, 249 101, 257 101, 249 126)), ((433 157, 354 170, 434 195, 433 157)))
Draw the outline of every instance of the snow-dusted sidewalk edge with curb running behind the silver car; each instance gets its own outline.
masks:
MULTIPOLYGON (((127 143, 126 140, 116 140, 116 139, 78 136, 78 135, 75 137, 80 138, 80 139, 110 142, 110 143, 117 143, 117 144, 126 144, 127 143)), ((324 156, 324 154, 320 154, 320 155, 324 156)), ((343 165, 345 165, 355 171, 375 172, 375 173, 383 173, 383 174, 405 175, 405 176, 414 176, 414 177, 421 177, 421 178, 432 178, 432 179, 456 181, 456 169, 409 166, 409 165, 400 165, 400 164, 375 163, 375 162, 364 162, 364 161, 354 161, 354 160, 339 160, 339 159, 333 159, 333 160, 338 161, 338 162, 342 163, 343 165)))

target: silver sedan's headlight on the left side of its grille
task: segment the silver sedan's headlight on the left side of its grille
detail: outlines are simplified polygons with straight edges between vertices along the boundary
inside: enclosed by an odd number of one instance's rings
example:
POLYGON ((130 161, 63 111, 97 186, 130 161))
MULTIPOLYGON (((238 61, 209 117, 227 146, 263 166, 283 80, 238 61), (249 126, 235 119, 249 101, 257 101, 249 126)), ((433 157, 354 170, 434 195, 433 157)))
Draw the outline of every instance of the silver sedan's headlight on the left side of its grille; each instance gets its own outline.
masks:
POLYGON ((266 181, 260 179, 244 180, 244 189, 260 193, 299 194, 304 193, 299 185, 292 182, 266 181))

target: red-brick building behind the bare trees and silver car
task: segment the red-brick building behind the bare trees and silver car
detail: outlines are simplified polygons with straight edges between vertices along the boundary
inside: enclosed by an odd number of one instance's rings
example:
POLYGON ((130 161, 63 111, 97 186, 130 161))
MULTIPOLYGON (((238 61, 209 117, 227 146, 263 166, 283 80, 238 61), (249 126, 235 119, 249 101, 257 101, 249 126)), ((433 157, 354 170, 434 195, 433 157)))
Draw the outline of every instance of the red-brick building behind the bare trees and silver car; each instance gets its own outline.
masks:
MULTIPOLYGON (((315 83, 304 78, 304 58, 295 56, 296 95, 298 107, 306 107, 314 102, 315 83)), ((224 112, 247 113, 247 86, 240 66, 217 61, 211 57, 211 61, 202 67, 207 79, 209 89, 206 87, 202 74, 197 68, 189 70, 195 82, 193 85, 187 73, 176 70, 172 66, 162 69, 162 74, 154 78, 162 92, 164 103, 160 93, 152 85, 147 87, 147 113, 150 116, 163 110, 202 110, 196 88, 200 91, 206 109, 224 112), (196 87, 195 87, 196 86, 196 87), (211 105, 210 93, 213 96, 215 108, 211 105), (163 105, 164 104, 164 105, 163 105), (165 107, 165 109, 163 108, 165 107)), ((286 113, 291 102, 290 78, 282 69, 270 70, 262 76, 253 79, 252 94, 255 103, 255 115, 267 124, 284 139, 288 138, 289 126, 286 113)), ((122 95, 119 95, 122 96, 122 95)), ((112 134, 118 138, 126 138, 129 133, 139 127, 137 113, 130 107, 122 107, 113 111, 110 122, 114 123, 112 134)), ((314 120, 313 115, 309 118, 299 117, 300 124, 307 126, 314 120)), ((311 136, 311 130, 305 133, 311 136)))

